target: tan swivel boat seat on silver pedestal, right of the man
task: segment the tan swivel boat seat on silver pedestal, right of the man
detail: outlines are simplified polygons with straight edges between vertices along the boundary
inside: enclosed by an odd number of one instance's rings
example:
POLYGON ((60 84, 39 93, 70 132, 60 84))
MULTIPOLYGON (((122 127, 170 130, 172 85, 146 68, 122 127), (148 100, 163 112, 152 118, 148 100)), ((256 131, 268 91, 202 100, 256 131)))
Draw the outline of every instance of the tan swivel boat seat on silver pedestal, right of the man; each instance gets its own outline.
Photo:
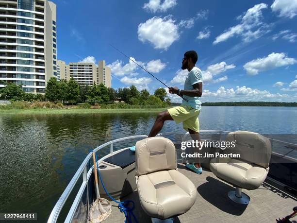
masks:
POLYGON ((266 179, 271 143, 268 138, 247 131, 231 132, 226 141, 236 141, 235 147, 228 150, 233 153, 240 152, 244 159, 213 158, 210 169, 218 178, 236 187, 235 191, 228 193, 231 200, 239 204, 248 204, 249 197, 241 190, 257 189, 266 179))

